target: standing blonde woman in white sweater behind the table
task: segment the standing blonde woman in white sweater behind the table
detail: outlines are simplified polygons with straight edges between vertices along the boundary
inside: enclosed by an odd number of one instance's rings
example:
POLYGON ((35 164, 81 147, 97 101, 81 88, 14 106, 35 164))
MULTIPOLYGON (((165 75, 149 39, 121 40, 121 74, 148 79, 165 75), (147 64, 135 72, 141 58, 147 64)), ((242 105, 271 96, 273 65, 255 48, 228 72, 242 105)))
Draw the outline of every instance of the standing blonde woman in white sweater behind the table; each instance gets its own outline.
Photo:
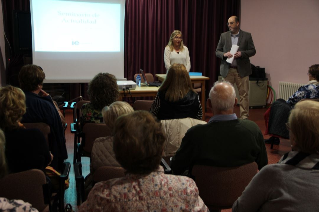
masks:
POLYGON ((179 30, 174 30, 164 50, 164 63, 168 73, 169 67, 174 63, 183 64, 187 71, 190 70, 188 48, 183 45, 183 35, 179 30))

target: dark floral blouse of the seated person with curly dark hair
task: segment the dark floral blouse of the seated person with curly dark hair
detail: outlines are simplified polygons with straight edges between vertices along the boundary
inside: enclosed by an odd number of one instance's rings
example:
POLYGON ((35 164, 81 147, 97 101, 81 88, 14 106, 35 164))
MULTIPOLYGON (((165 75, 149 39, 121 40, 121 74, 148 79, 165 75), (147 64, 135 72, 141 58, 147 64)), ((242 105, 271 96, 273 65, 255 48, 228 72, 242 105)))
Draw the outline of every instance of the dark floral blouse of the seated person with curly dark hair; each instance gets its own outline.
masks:
POLYGON ((90 102, 83 104, 80 110, 81 127, 86 123, 104 123, 102 111, 95 110, 90 102))

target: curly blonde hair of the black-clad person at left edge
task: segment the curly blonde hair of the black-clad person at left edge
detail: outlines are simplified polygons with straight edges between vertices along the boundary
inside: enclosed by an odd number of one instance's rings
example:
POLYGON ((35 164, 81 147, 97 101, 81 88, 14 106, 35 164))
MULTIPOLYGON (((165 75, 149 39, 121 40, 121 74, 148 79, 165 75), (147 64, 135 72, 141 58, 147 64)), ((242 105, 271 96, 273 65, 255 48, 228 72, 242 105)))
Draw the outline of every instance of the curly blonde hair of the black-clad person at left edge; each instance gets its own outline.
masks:
POLYGON ((20 88, 7 85, 0 88, 0 128, 19 128, 18 121, 26 113, 26 96, 20 88))

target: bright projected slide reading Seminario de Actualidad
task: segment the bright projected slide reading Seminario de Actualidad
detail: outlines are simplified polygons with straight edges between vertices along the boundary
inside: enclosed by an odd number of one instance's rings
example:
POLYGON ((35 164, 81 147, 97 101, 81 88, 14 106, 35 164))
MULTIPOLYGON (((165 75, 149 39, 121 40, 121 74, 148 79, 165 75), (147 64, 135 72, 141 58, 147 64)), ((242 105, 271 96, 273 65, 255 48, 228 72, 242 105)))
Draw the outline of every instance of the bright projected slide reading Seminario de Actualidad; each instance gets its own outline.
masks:
POLYGON ((120 52, 120 4, 32 2, 35 52, 120 52))

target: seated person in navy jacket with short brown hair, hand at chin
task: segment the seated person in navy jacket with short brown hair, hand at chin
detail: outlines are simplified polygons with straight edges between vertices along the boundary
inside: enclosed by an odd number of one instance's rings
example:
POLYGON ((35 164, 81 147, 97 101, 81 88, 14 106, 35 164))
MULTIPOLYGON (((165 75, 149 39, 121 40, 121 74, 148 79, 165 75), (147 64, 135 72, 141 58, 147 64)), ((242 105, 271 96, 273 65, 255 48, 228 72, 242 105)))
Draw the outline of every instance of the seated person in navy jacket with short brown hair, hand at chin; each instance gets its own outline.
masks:
POLYGON ((64 128, 51 96, 42 90, 44 78, 42 68, 37 65, 25 65, 20 70, 20 88, 26 95, 26 113, 23 115, 22 123, 43 122, 50 126, 55 136, 55 140, 49 139, 49 149, 54 155, 51 166, 60 170, 59 165, 68 158, 64 128))

